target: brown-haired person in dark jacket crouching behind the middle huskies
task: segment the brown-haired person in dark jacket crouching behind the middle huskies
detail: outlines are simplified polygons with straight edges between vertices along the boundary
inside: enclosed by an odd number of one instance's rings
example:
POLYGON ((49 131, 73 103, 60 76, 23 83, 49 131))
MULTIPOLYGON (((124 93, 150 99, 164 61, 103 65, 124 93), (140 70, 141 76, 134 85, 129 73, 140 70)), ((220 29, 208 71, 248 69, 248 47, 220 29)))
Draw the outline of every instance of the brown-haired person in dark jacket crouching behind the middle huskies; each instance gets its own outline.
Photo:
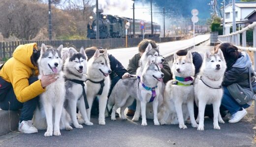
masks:
MULTIPOLYGON (((128 73, 129 74, 136 74, 136 70, 139 67, 139 60, 141 55, 145 52, 146 48, 148 47, 149 43, 151 44, 152 48, 157 48, 157 43, 153 40, 144 39, 142 40, 139 45, 139 52, 136 53, 131 59, 129 59, 128 64, 128 73)), ((162 64, 163 68, 161 72, 164 74, 163 82, 166 83, 172 78, 171 69, 168 62, 164 61, 162 64)), ((136 100, 133 101, 132 105, 128 107, 127 116, 133 116, 136 109, 136 100)))

